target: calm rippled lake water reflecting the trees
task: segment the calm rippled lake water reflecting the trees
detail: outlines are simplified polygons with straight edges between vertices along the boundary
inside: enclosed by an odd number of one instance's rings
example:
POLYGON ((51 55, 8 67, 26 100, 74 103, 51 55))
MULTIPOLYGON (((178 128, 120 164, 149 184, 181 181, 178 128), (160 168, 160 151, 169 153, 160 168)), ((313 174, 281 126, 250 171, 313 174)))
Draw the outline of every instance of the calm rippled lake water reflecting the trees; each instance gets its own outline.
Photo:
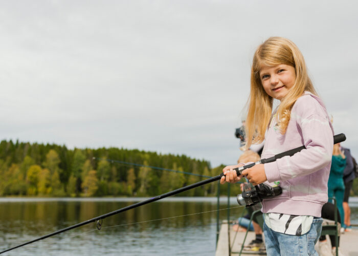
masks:
MULTIPOLYGON (((0 249, 143 200, 0 198, 0 249)), ((358 224, 358 198, 350 205, 358 224)), ((232 218, 241 214, 235 198, 230 206, 232 218)), ((220 199, 220 220, 227 207, 220 199)), ((90 223, 2 255, 214 255, 216 209, 216 198, 167 198, 108 217, 101 230, 90 223)))

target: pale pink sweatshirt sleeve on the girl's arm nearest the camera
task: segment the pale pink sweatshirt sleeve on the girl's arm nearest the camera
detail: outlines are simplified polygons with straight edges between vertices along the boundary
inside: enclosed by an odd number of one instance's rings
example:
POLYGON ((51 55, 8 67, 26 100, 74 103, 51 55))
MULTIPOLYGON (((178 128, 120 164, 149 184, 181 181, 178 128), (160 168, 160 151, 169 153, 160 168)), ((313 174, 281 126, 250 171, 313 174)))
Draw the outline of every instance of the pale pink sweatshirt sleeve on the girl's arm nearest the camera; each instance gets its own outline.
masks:
MULTIPOLYGON (((304 150, 292 157, 286 156, 264 164, 267 181, 284 181, 316 172, 331 162, 333 131, 326 112, 320 106, 303 104, 297 106, 295 122, 302 133, 304 150), (300 110, 300 111, 298 111, 300 110)), ((294 109, 293 109, 294 110, 294 109)))

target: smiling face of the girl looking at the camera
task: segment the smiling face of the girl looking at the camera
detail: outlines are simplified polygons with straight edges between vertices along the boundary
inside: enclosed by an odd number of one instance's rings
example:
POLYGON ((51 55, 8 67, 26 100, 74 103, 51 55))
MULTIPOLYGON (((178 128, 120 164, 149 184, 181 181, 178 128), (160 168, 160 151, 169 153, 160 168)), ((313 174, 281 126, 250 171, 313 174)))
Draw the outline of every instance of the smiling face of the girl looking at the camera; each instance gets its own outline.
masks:
POLYGON ((295 68, 285 64, 277 66, 262 65, 259 74, 265 92, 278 100, 287 95, 296 81, 295 68))

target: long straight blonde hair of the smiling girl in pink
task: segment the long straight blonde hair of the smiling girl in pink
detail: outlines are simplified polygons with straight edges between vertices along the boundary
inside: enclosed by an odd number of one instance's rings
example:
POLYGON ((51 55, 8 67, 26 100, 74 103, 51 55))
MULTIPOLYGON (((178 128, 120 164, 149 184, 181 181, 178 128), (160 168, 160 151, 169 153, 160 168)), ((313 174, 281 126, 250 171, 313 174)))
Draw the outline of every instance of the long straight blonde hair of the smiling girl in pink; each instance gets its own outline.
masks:
POLYGON ((273 67, 280 64, 292 66, 296 71, 296 81, 287 95, 281 100, 277 110, 278 127, 282 134, 286 132, 290 111, 303 92, 308 91, 317 95, 308 77, 306 64, 298 47, 292 41, 283 37, 270 37, 264 41, 257 48, 251 67, 249 110, 245 125, 246 148, 249 148, 253 143, 260 143, 264 140, 265 131, 272 115, 273 98, 263 89, 260 78, 261 66, 273 67))

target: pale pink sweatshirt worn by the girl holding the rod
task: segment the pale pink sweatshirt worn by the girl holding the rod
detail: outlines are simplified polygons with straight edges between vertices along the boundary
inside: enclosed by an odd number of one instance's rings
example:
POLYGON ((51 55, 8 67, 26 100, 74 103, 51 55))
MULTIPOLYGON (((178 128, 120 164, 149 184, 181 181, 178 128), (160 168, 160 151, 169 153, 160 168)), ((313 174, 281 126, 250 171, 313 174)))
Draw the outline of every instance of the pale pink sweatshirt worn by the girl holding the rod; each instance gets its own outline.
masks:
POLYGON ((315 95, 305 92, 295 102, 286 133, 277 129, 276 116, 268 127, 261 158, 305 145, 294 156, 265 163, 270 185, 280 181, 282 194, 265 199, 262 212, 321 217, 322 205, 327 202, 327 183, 333 151, 333 127, 326 108, 315 95))

